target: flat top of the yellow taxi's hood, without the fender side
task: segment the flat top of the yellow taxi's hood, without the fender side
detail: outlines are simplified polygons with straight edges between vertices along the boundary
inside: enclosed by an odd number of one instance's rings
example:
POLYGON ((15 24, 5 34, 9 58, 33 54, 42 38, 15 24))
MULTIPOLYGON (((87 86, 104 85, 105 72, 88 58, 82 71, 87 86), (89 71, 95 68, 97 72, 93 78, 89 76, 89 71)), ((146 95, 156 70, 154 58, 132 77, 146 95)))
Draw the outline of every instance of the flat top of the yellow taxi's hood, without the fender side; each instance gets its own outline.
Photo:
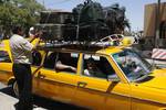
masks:
POLYGON ((153 70, 153 73, 141 81, 139 85, 166 90, 166 68, 153 70))

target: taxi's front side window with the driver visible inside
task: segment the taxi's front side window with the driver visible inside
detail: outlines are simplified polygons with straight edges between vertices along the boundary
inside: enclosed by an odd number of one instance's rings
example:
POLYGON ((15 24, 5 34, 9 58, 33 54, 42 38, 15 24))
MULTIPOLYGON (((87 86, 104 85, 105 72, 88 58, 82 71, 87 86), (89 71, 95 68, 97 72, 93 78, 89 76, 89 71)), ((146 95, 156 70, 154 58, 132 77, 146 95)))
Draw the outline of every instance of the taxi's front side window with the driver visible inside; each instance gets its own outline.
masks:
POLYGON ((83 56, 83 75, 104 79, 117 77, 106 57, 87 54, 83 56))

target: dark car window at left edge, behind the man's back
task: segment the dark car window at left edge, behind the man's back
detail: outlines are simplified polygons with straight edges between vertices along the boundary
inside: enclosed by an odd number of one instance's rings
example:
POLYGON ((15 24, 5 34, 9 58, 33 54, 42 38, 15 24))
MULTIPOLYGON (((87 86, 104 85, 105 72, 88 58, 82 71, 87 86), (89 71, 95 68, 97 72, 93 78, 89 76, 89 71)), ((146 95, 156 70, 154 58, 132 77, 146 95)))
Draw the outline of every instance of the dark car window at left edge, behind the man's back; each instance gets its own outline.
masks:
POLYGON ((0 51, 0 63, 11 63, 7 51, 0 51))

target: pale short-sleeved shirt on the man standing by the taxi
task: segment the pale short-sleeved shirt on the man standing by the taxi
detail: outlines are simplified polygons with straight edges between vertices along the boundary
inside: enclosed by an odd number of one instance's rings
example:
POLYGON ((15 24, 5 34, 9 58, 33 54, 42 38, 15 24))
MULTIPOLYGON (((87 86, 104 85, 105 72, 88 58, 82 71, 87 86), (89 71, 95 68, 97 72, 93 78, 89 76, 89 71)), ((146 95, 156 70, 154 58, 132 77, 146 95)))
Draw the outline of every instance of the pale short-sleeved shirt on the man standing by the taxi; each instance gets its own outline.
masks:
POLYGON ((31 64, 33 45, 22 36, 14 34, 10 38, 10 48, 13 63, 17 64, 31 64))

